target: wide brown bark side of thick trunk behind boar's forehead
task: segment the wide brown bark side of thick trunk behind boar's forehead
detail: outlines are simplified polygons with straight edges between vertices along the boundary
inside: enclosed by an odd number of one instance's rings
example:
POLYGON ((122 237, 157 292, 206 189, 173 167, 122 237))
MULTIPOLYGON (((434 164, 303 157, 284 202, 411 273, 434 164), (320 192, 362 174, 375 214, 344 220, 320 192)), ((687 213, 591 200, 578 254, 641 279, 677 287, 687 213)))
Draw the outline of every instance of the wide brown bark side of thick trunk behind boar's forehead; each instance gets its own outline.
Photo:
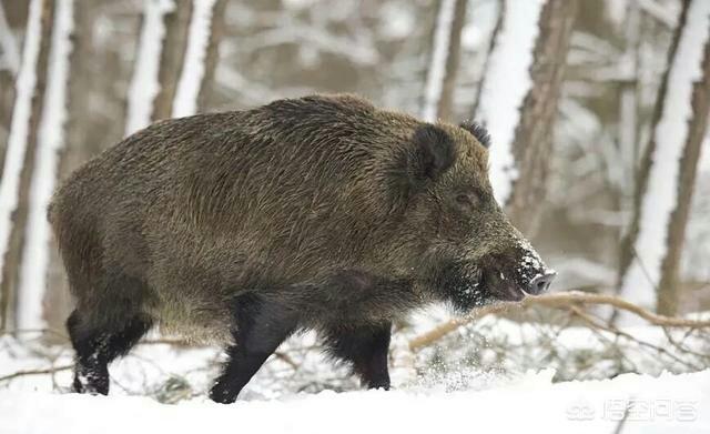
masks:
POLYGON ((557 102, 576 16, 577 0, 548 0, 542 8, 530 69, 532 85, 513 141, 518 176, 507 209, 517 228, 529 236, 537 230, 545 204, 557 102))

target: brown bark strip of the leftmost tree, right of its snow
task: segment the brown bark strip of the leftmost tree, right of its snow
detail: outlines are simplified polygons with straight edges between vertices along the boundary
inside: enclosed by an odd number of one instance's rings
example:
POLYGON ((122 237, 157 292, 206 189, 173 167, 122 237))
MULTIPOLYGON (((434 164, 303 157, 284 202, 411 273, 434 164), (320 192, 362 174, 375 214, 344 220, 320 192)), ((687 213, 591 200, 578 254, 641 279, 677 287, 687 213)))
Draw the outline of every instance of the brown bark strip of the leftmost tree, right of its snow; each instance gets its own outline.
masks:
MULTIPOLYGON (((28 216, 28 199, 30 180, 34 166, 36 149, 38 142, 38 127, 40 123, 40 117, 42 113, 42 104, 44 100, 44 89, 47 87, 47 70, 49 63, 49 49, 51 44, 52 23, 54 13, 54 1, 52 0, 36 0, 41 9, 40 14, 40 47, 37 57, 37 63, 34 65, 36 82, 32 91, 32 100, 29 113, 29 121, 27 125, 27 138, 24 140, 24 155, 22 159, 22 169, 19 176, 18 190, 11 192, 12 195, 17 195, 17 205, 12 210, 11 228, 9 229, 9 240, 7 250, 3 253, 4 261, 2 266, 2 329, 8 329, 10 325, 14 325, 16 320, 16 303, 17 303, 17 289, 19 283, 19 273, 22 259, 22 250, 24 245, 24 230, 28 216)), ((31 19, 31 17, 30 17, 31 19)), ((30 27, 28 19, 28 28, 30 27)), ((30 30, 28 30, 30 31, 30 30)), ((26 39, 29 34, 26 36, 26 39)), ((27 50, 26 50, 27 52, 27 50)), ((29 65, 28 65, 29 68, 29 65)), ((19 125, 13 121, 13 127, 19 125)), ((12 132, 11 132, 12 133, 12 132)), ((7 169, 7 166, 6 166, 7 169)), ((3 173, 8 175, 8 171, 3 173)), ((3 178, 4 182, 4 178, 3 178)), ((4 224, 4 223, 0 223, 4 224)), ((4 248, 4 245, 2 246, 4 248)))

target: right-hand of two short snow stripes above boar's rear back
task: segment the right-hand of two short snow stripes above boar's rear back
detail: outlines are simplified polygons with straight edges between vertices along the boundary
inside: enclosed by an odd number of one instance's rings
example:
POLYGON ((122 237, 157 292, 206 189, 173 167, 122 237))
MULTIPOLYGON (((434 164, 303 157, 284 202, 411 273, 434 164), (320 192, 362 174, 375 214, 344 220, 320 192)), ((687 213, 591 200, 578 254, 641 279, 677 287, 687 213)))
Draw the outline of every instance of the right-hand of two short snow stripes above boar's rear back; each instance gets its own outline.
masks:
POLYGON ((204 60, 210 44, 210 24, 215 0, 195 1, 182 75, 173 102, 173 118, 196 113, 197 95, 204 77, 204 60))

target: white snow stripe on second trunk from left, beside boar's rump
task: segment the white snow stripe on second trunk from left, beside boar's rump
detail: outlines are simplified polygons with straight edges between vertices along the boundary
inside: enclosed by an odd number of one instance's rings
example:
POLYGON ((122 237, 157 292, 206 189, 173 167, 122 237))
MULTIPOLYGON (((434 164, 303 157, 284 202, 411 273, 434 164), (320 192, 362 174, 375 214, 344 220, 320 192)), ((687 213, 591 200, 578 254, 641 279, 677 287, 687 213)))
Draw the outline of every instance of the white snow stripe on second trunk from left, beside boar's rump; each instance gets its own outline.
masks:
POLYGON ((26 244, 22 252, 20 290, 18 292, 17 325, 20 329, 41 329, 42 296, 49 266, 50 228, 47 208, 54 190, 59 150, 64 145, 67 121, 67 84, 69 54, 73 29, 73 0, 58 0, 49 77, 42 119, 38 132, 38 148, 29 196, 26 244))

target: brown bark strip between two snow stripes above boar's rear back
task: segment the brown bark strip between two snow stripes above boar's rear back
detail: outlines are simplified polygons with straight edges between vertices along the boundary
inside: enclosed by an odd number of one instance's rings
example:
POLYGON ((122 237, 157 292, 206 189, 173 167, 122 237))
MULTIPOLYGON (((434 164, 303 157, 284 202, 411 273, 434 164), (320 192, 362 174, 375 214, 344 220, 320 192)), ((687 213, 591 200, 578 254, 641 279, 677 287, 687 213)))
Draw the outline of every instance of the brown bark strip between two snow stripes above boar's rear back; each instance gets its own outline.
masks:
POLYGON ((172 115, 178 80, 180 80, 184 63, 192 1, 175 0, 174 4, 173 10, 163 17, 165 36, 158 72, 160 91, 153 102, 152 120, 166 119, 172 115))

